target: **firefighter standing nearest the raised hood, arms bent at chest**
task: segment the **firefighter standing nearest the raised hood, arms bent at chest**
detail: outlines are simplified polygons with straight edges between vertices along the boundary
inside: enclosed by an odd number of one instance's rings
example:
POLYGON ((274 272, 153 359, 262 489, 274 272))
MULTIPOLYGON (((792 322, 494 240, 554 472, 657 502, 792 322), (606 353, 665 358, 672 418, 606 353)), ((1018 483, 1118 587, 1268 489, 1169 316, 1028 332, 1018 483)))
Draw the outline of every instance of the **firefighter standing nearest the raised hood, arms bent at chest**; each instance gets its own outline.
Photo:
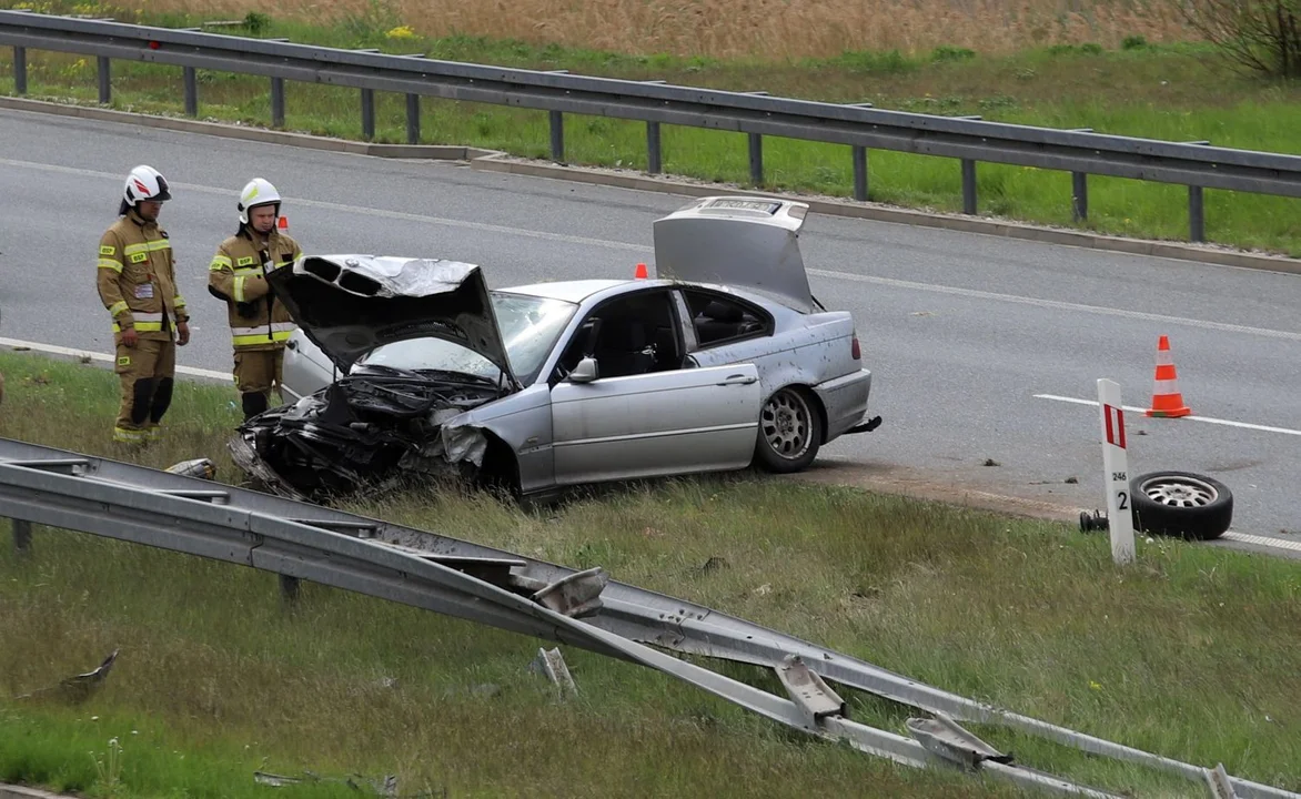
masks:
POLYGON ((235 386, 245 419, 271 406, 271 390, 280 390, 285 341, 294 331, 293 316, 276 301, 267 275, 291 264, 302 250, 280 233, 280 193, 254 178, 239 193, 239 230, 221 242, 208 269, 208 291, 228 306, 235 357, 235 386))

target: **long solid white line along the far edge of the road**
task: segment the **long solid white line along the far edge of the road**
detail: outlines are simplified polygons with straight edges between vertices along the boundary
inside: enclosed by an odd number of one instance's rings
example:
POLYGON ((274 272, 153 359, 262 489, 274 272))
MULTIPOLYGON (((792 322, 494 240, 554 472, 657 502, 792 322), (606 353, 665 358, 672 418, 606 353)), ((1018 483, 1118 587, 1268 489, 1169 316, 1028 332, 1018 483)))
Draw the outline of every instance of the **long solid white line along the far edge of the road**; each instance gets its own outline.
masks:
MULTIPOLYGON (((121 181, 121 176, 109 172, 100 172, 96 169, 82 169, 79 167, 59 167, 53 164, 40 164, 35 161, 21 161, 16 159, 0 159, 0 164, 17 167, 21 169, 35 169, 40 172, 57 172, 62 174, 75 174, 82 177, 94 177, 101 180, 111 180, 114 182, 121 181)), ((221 189, 216 186, 203 186, 199 183, 177 183, 173 186, 178 189, 185 189, 189 191, 198 191, 203 194, 213 194, 219 196, 234 196, 234 189, 221 189)), ((380 219, 397 219, 428 225, 441 225, 446 228, 461 228, 464 230, 480 230, 484 233, 496 233, 503 236, 520 236, 526 238, 539 238, 544 241, 557 241, 570 245, 582 245, 589 247, 604 247, 610 250, 622 250, 627 252, 637 252, 643 255, 654 255, 654 247, 647 245, 636 245, 631 242, 609 241, 601 238, 589 238, 585 236, 570 236, 566 233, 549 233, 545 230, 528 230, 524 228, 511 228, 507 225, 492 225, 488 223, 475 223, 459 219, 446 219, 440 216, 425 216, 422 213, 407 213, 403 211, 384 211, 377 208, 366 208, 362 206, 347 206, 343 203, 330 203, 325 200, 311 200, 311 199, 295 199, 286 198, 291 206, 302 206, 308 208, 323 208, 327 211, 340 211, 343 213, 355 213, 362 216, 373 216, 380 219)), ((950 297, 967 297, 971 299, 989 299, 995 302, 1008 302, 1015 305, 1033 306, 1039 308, 1051 308, 1056 311, 1073 311, 1080 314, 1093 314, 1097 316, 1116 316, 1121 319, 1137 319, 1140 321, 1155 321, 1160 324, 1170 325, 1183 325, 1190 328, 1201 328, 1206 331, 1222 331, 1227 333, 1246 333, 1252 336, 1263 336, 1266 338, 1281 338, 1284 341, 1301 341, 1301 332, 1292 331, 1274 331, 1268 328, 1253 328, 1240 324, 1227 324, 1223 321, 1206 321, 1202 319, 1187 319, 1183 316, 1163 316, 1160 314, 1146 314, 1142 311, 1125 311, 1121 308, 1108 308, 1103 306, 1090 306, 1076 302, 1062 302, 1056 299, 1039 299, 1036 297, 1021 297, 1017 294, 999 294, 997 291, 981 291, 978 289, 964 289, 959 286, 945 286, 928 282, 916 282, 911 280, 898 280, 894 277, 878 277, 874 275, 855 275, 851 272, 838 272, 833 269, 812 269, 805 268, 809 275, 817 275, 820 277, 831 277, 835 280, 848 280, 852 282, 865 282, 879 286, 891 286, 895 289, 907 289, 912 291, 928 291, 932 294, 947 294, 950 297)))

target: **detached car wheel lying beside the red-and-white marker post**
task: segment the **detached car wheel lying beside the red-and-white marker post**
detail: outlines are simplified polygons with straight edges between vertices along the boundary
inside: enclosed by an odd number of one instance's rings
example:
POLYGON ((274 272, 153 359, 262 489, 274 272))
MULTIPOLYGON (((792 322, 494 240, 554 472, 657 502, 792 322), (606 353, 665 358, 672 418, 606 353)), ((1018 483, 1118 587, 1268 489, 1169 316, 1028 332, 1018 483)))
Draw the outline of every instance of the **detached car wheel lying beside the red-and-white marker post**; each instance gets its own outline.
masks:
POLYGON ((1214 478, 1187 471, 1153 471, 1129 481, 1134 530, 1207 541, 1233 521, 1233 493, 1214 478))

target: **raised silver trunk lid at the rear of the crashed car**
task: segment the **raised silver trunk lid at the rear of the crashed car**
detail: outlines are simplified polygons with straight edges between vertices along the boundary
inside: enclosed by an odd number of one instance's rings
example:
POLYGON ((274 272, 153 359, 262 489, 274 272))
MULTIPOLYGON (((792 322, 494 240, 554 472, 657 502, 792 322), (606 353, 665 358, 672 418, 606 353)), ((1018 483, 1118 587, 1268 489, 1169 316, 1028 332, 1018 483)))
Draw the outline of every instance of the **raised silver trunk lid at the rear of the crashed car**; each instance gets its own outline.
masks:
POLYGON ((808 203, 706 196, 654 223, 656 276, 749 289, 811 314, 799 233, 808 203))

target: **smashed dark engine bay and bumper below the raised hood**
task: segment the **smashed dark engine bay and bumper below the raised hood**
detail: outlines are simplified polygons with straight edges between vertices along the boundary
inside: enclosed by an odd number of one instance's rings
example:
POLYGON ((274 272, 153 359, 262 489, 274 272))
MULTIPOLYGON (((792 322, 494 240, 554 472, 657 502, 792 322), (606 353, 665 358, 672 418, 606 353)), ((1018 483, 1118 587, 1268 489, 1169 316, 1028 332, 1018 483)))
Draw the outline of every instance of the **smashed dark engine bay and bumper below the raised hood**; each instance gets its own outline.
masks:
POLYGON ((464 476, 483 465, 487 440, 451 420, 498 396, 490 381, 444 373, 342 377, 248 419, 230 450, 273 493, 312 502, 464 476))

